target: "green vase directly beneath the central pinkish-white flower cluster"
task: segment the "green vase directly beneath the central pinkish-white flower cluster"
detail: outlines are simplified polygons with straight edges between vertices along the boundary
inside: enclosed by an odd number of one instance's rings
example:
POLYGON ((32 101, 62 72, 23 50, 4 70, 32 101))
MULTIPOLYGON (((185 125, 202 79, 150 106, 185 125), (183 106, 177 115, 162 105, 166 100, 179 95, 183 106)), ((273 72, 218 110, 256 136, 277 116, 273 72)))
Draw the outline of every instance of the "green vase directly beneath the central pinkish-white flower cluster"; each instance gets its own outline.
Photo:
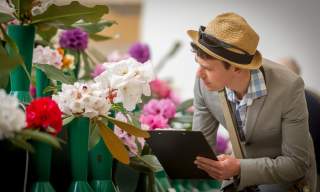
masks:
POLYGON ((94 192, 87 181, 89 123, 89 118, 77 117, 68 125, 72 176, 69 192, 94 192))

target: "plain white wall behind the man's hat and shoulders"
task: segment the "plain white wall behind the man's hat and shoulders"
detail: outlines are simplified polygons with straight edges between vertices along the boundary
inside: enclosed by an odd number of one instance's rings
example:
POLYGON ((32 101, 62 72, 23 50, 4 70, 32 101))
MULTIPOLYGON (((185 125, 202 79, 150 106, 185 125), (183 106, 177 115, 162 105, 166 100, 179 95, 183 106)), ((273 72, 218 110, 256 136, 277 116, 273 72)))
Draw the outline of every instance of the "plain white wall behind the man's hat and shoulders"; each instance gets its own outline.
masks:
POLYGON ((159 77, 173 78, 181 96, 189 98, 193 96, 197 65, 186 30, 197 30, 217 14, 233 11, 246 18, 260 35, 258 49, 264 57, 276 60, 294 56, 305 84, 320 91, 319 10, 319 0, 145 0, 141 37, 150 45, 155 63, 175 40, 183 43, 159 77))

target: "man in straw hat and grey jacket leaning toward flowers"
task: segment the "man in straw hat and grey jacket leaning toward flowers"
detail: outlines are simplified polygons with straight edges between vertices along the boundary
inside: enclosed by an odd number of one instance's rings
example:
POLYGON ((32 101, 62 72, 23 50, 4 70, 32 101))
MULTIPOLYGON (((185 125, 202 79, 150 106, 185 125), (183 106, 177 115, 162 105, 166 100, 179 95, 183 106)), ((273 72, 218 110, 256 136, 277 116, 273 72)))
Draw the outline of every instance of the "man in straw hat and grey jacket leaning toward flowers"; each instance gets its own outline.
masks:
POLYGON ((308 130, 302 79, 262 59, 259 36, 235 13, 218 15, 199 31, 189 30, 199 64, 194 87, 193 130, 215 145, 219 123, 225 126, 218 91, 225 89, 244 143, 245 159, 221 155, 197 157, 195 164, 232 188, 288 191, 304 179, 315 191, 315 159, 308 130), (233 187, 231 187, 233 186, 233 187))

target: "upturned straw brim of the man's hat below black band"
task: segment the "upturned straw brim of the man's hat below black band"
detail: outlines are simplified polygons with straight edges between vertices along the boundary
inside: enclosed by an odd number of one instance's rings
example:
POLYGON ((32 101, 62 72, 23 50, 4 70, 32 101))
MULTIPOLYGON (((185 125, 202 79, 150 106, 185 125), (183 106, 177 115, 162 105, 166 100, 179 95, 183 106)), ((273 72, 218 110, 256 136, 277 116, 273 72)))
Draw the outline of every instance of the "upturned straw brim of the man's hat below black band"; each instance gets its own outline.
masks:
POLYGON ((204 52, 206 52, 207 54, 209 54, 210 56, 214 57, 214 58, 217 58, 219 60, 223 60, 227 63, 230 63, 231 65, 234 65, 238 68, 241 68, 241 69, 258 69, 261 67, 261 64, 262 64, 262 56, 260 54, 259 51, 256 51, 251 63, 249 64, 239 64, 239 63, 235 63, 233 61, 229 61, 228 59, 225 59, 217 54, 215 54, 214 52, 210 51, 209 49, 207 49, 205 46, 201 45, 199 42, 198 42, 198 39, 199 39, 199 33, 198 31, 194 31, 194 30, 188 30, 187 31, 187 34, 189 35, 189 37, 192 39, 192 42, 194 44, 196 44, 200 49, 202 49, 204 52))

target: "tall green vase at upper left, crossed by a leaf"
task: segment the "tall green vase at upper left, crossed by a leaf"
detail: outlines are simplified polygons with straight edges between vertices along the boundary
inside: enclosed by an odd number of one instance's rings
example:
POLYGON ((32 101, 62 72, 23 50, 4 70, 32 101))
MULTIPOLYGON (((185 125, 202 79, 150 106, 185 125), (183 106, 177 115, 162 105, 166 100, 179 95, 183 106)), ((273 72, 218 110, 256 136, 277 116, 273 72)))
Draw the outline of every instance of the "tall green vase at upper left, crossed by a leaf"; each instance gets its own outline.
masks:
MULTIPOLYGON (((27 71, 31 72, 32 55, 34 47, 35 27, 33 25, 9 25, 8 36, 10 36, 16 43, 19 52, 24 60, 27 71)), ((9 54, 12 54, 11 48, 8 48, 9 54)), ((29 103, 31 95, 29 93, 30 80, 19 65, 10 73, 10 94, 15 95, 22 103, 29 103)))

